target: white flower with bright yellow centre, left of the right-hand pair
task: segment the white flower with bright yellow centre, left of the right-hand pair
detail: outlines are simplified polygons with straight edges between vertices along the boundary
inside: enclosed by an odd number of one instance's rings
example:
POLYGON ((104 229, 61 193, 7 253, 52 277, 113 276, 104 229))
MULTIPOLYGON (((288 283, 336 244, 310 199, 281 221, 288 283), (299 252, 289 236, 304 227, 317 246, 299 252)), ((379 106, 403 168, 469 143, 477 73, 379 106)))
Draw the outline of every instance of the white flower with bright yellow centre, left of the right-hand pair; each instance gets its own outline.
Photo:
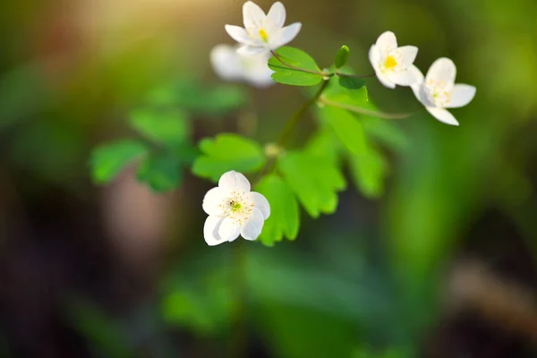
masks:
POLYGON ((395 89, 396 85, 410 86, 416 81, 414 73, 408 71, 418 55, 418 47, 397 47, 396 35, 386 31, 372 45, 369 52, 370 62, 384 86, 395 89))

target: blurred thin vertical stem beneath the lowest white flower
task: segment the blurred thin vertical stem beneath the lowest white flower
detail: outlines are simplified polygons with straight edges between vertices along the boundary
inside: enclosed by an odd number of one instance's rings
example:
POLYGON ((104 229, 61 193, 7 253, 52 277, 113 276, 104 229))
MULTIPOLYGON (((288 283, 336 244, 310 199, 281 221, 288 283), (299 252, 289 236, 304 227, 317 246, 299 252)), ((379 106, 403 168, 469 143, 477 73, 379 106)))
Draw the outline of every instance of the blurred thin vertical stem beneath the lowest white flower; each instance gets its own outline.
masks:
POLYGON ((237 240, 234 243, 234 328, 231 341, 230 358, 248 356, 248 287, 246 277, 247 242, 237 240))

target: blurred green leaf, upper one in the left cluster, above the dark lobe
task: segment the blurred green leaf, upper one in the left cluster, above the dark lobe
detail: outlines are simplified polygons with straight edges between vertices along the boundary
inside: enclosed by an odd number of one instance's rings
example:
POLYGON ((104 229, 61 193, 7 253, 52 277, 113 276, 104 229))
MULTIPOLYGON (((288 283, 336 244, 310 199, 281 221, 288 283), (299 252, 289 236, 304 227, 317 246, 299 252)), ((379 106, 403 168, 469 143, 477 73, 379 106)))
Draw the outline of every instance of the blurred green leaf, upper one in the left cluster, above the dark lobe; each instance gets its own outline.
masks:
POLYGON ((178 110, 138 109, 131 113, 130 123, 134 130, 149 139, 167 146, 177 146, 185 141, 190 123, 178 110))

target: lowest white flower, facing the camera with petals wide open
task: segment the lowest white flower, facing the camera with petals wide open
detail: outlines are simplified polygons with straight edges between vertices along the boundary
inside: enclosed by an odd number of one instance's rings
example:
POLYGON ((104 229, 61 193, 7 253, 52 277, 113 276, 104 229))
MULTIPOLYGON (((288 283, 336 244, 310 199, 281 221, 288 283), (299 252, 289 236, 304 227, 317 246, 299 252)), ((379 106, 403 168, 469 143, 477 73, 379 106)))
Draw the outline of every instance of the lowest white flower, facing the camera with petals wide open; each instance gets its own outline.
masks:
POLYGON ((227 172, 217 188, 203 198, 203 210, 209 214, 203 236, 209 246, 232 242, 239 234, 255 240, 270 216, 268 200, 259 192, 250 192, 250 182, 241 173, 227 172))

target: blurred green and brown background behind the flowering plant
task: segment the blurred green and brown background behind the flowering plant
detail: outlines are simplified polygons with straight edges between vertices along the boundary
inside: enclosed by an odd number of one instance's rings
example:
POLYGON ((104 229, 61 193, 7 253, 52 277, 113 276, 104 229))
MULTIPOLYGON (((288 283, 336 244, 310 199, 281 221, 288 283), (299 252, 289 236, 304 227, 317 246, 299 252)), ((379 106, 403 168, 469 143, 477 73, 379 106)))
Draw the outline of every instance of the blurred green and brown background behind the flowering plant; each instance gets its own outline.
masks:
MULTIPOLYGON (((233 43, 224 24, 241 23, 242 4, 3 4, 0 356, 537 356, 534 0, 284 3, 287 22, 303 22, 292 45, 321 65, 346 44, 369 73, 369 47, 392 30, 420 48, 422 71, 447 56, 477 87, 454 110, 459 127, 424 112, 397 123, 405 146, 388 153, 384 195, 349 186, 335 215, 303 215, 293 243, 241 245, 242 262, 232 244, 209 248, 212 184, 187 172, 167 194, 129 170, 90 183, 91 149, 131 135, 126 114, 149 92, 221 84, 209 50, 233 43)), ((411 90, 367 86, 387 112, 420 107, 411 90)), ((281 85, 239 90, 262 143, 304 100, 281 85)), ((243 115, 200 111, 194 139, 235 132, 243 115)))

